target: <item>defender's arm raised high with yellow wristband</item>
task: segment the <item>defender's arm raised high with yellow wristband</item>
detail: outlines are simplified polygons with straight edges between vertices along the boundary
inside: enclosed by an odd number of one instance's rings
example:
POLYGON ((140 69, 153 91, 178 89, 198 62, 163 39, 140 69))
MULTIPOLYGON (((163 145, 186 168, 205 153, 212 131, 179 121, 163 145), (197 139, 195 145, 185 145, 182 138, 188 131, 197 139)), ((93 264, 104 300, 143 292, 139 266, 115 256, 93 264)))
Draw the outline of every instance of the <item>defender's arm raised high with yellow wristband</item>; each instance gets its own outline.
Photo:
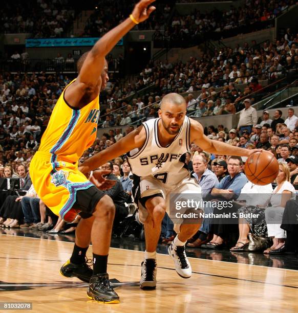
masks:
MULTIPOLYGON (((101 74, 103 70, 105 72, 108 71, 107 66, 104 66, 105 56, 127 32, 150 16, 155 10, 155 7, 150 6, 154 1, 141 0, 136 4, 131 17, 126 18, 121 24, 110 30, 95 43, 83 61, 76 81, 67 88, 65 98, 70 105, 81 107, 83 105, 80 102, 84 95, 88 94, 87 98, 91 97, 93 99, 98 95, 101 85, 101 74)), ((107 75, 107 73, 103 74, 107 75)))

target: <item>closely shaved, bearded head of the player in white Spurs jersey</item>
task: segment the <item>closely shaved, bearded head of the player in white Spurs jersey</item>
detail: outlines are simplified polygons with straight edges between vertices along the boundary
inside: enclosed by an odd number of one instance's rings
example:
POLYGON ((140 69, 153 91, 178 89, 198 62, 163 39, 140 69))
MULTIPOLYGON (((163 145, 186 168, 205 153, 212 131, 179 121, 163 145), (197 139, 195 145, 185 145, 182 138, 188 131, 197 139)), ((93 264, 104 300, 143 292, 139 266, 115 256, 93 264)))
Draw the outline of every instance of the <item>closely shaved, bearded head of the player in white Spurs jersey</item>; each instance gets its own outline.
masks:
POLYGON ((186 115, 185 99, 175 93, 165 95, 161 100, 158 115, 169 135, 176 135, 186 115))

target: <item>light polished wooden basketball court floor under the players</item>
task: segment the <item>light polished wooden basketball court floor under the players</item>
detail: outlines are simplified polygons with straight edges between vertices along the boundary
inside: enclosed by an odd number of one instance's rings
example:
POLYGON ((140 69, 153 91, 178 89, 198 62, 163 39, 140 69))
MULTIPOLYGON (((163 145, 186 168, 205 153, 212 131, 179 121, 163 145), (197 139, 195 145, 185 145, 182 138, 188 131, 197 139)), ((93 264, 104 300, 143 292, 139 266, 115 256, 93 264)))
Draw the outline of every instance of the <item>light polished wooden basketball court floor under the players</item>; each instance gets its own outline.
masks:
POLYGON ((158 287, 143 291, 143 253, 111 248, 108 271, 121 303, 108 305, 89 300, 86 283, 59 274, 72 243, 1 234, 0 247, 0 302, 32 302, 33 312, 298 311, 298 271, 189 258, 193 276, 182 279, 159 254, 158 287))

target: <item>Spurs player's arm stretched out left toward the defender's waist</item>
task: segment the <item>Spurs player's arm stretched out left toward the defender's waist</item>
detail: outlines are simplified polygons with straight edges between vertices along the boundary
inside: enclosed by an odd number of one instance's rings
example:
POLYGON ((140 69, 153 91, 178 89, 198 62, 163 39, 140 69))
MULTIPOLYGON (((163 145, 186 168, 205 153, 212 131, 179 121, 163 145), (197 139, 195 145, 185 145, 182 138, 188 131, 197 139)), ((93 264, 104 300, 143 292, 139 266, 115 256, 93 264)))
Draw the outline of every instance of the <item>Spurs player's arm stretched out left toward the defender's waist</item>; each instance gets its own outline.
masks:
POLYGON ((94 169, 97 169, 100 165, 113 160, 119 155, 122 155, 135 148, 141 148, 146 140, 146 131, 143 126, 140 126, 129 133, 129 135, 123 137, 112 146, 101 152, 93 155, 90 159, 86 160, 79 166, 79 170, 86 174, 94 169))

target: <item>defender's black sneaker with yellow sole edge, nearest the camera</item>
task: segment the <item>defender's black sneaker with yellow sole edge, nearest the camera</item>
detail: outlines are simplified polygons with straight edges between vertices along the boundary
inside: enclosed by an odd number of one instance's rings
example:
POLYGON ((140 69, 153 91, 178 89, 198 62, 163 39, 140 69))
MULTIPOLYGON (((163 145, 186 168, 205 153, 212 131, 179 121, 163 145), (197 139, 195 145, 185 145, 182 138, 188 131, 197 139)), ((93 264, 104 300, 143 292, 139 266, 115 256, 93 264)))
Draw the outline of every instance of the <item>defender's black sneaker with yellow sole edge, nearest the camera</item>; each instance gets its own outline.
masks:
POLYGON ((109 275, 107 273, 96 274, 91 277, 87 296, 89 299, 99 303, 120 302, 119 296, 110 285, 109 275))

